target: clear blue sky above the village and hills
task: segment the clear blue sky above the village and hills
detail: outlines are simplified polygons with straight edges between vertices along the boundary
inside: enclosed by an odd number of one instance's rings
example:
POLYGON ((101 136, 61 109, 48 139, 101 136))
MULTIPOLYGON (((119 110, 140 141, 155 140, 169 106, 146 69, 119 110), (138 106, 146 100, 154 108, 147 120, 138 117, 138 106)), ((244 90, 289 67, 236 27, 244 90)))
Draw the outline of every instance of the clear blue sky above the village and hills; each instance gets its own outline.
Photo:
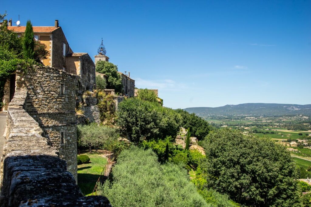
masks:
POLYGON ((171 108, 311 104, 311 1, 1 1, 13 22, 54 20, 74 52, 110 62, 171 108))

